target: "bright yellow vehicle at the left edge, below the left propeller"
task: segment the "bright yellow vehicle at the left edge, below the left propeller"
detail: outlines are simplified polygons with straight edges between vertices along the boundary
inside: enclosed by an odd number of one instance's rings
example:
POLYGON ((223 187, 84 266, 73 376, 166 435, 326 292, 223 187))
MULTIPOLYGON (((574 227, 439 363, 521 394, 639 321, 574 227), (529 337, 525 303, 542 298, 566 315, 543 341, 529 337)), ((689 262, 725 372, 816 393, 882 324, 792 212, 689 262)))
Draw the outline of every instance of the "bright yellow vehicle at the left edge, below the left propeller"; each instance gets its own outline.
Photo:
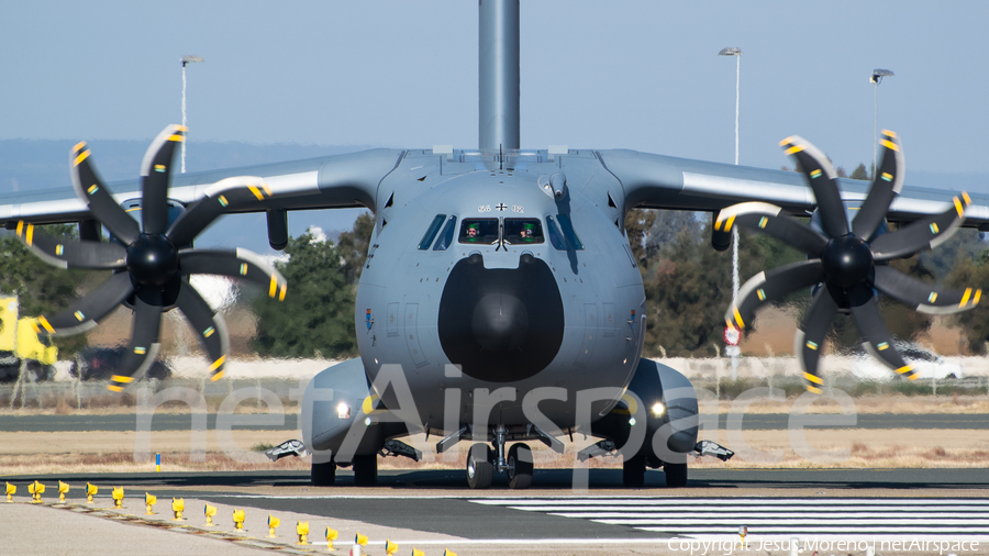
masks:
POLYGON ((13 381, 21 372, 21 364, 34 380, 51 380, 55 376, 58 348, 48 336, 34 332, 36 319, 18 319, 16 297, 0 297, 0 381, 13 381))

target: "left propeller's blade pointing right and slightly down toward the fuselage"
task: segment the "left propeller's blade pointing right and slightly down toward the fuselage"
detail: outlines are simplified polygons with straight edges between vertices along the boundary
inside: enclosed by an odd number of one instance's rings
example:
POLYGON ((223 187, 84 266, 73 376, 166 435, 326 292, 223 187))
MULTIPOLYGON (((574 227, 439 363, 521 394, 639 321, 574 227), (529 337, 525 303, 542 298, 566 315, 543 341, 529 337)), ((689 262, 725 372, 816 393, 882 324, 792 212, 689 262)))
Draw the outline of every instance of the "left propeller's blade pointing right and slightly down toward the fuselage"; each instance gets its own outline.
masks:
POLYGON ((285 301, 288 282, 281 273, 247 249, 182 249, 179 267, 188 274, 214 274, 243 278, 267 288, 268 297, 285 301))

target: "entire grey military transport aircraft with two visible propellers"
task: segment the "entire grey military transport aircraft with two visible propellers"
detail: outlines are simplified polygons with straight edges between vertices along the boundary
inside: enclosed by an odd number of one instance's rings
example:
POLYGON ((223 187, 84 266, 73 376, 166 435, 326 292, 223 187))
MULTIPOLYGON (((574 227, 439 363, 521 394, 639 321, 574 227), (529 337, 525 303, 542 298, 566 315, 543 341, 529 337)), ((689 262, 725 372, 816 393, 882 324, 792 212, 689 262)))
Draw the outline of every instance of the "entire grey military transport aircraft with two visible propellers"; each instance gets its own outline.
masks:
POLYGON ((887 265, 936 246, 963 219, 989 226, 987 199, 903 187, 896 134, 884 135, 869 188, 836 178, 800 137, 782 147, 802 175, 634 151, 523 148, 519 3, 481 0, 479 13, 477 148, 375 149, 175 176, 173 153, 186 130, 169 126, 145 156, 140 189, 104 185, 96 155, 79 144, 70 154, 76 198, 0 199, 0 221, 49 263, 114 271, 64 312, 41 316, 40 329, 82 332, 118 304, 133 308, 130 355, 110 385, 120 391, 153 359, 160 314, 178 308, 219 379, 226 332, 188 276, 246 278, 279 299, 291 288, 248 252, 193 248, 197 234, 222 214, 265 211, 269 242, 282 248, 288 211, 366 207, 376 227, 357 292, 360 357, 320 372, 305 393, 314 485, 333 485, 337 466, 374 483, 377 456, 418 457, 398 437, 424 431, 438 438, 437 452, 476 443, 467 460, 473 488, 489 487, 496 471, 512 488, 529 487, 524 442, 558 449, 556 436, 575 432, 600 438, 586 457, 621 451, 626 486, 642 486, 646 467, 663 467, 677 487, 687 482, 686 454, 704 449, 697 398, 677 370, 641 357, 646 300, 626 211, 710 211, 715 248, 729 246, 734 226, 747 226, 807 253, 807 262, 749 280, 726 320, 744 329, 760 304, 813 288, 796 351, 811 390, 821 383, 818 357, 835 313, 849 312, 877 356, 913 377, 877 297, 935 313, 979 302, 978 290, 933 288, 887 265), (810 226, 793 218, 811 214, 810 226), (35 230, 55 222, 79 222, 81 241, 35 230), (899 229, 889 232, 887 222, 899 229), (101 241, 100 225, 111 241, 101 241))

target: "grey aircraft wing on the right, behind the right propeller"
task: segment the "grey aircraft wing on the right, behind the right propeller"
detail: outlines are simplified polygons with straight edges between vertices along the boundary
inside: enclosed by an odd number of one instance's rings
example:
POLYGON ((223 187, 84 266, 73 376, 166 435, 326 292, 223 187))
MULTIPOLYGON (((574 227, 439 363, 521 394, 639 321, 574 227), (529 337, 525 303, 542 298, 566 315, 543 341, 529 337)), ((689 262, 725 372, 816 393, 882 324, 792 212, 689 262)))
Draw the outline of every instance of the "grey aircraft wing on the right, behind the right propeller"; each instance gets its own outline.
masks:
MULTIPOLYGON (((816 202, 803 174, 676 158, 626 149, 598 151, 598 157, 622 184, 625 210, 681 209, 719 211, 760 201, 805 215, 816 202)), ((909 173, 905 175, 909 179, 909 173)), ((870 182, 840 179, 842 200, 865 200, 870 182)), ((891 222, 912 222, 938 214, 960 191, 904 186, 887 213, 891 222)), ((989 196, 969 193, 965 226, 989 230, 989 196)))

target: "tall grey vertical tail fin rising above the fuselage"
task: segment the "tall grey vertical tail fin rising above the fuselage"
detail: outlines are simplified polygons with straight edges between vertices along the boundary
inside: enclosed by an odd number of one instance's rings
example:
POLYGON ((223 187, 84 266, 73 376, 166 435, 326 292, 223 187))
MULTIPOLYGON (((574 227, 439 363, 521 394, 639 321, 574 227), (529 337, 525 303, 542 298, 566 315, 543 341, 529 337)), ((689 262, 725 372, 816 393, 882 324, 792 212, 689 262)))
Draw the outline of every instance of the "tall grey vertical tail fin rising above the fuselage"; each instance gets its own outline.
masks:
POLYGON ((478 2, 478 147, 520 147, 519 0, 478 2))

